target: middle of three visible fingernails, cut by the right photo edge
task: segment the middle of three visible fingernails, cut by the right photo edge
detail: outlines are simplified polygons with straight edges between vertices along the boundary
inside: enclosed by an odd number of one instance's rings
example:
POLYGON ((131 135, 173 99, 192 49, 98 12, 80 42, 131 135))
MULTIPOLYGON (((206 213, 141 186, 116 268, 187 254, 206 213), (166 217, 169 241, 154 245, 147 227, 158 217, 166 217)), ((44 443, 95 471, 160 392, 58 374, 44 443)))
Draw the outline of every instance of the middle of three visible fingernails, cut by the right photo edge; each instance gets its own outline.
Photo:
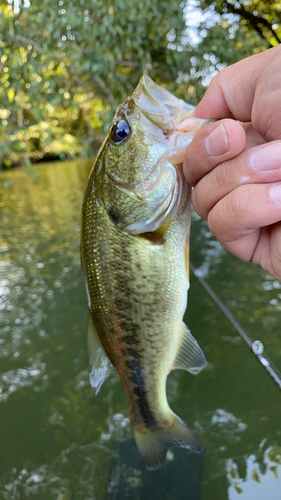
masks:
POLYGON ((268 146, 257 149, 251 154, 249 161, 251 167, 258 172, 280 168, 281 141, 276 141, 268 146))

